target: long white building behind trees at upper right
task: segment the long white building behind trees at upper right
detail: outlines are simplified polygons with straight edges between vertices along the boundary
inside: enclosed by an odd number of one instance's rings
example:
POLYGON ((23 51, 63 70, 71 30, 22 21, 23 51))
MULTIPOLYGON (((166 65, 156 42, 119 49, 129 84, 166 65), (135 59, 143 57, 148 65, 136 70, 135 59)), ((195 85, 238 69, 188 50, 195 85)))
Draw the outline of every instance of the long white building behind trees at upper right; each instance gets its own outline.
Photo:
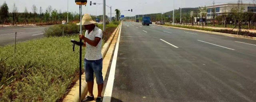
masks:
MULTIPOLYGON (((222 15, 224 12, 231 13, 233 7, 237 7, 237 3, 227 3, 213 6, 206 6, 207 8, 207 19, 213 18, 213 9, 215 8, 215 17, 222 15)), ((256 13, 256 7, 254 4, 243 4, 244 12, 254 12, 256 13)))

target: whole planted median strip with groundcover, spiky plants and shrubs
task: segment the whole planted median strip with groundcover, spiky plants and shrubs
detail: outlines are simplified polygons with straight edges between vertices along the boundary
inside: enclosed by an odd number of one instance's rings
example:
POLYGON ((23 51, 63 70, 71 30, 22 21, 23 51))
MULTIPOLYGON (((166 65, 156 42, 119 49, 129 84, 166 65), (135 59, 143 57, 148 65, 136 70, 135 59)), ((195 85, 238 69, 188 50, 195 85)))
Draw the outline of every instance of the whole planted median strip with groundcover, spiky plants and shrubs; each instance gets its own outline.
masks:
MULTIPOLYGON (((103 44, 120 22, 107 25, 103 44)), ((46 29, 42 39, 0 47, 0 102, 56 102, 78 80, 79 47, 72 51, 71 39, 78 40, 77 25, 68 24, 66 35, 60 35, 60 25, 46 29), (55 28, 56 27, 56 28, 55 28), (50 30, 55 29, 55 30, 50 30)), ((102 28, 102 25, 98 25, 102 28)), ((85 54, 83 49, 83 55, 85 54)))

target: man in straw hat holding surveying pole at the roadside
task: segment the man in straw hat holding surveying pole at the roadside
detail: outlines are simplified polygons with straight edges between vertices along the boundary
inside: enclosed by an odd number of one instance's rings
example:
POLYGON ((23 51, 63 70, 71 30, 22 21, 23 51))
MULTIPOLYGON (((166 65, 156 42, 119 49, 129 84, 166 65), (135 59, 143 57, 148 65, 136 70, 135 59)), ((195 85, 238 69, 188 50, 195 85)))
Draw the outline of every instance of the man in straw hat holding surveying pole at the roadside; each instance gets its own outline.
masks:
MULTIPOLYGON (((77 25, 80 25, 80 23, 77 25)), ((94 100, 94 95, 92 94, 94 74, 98 84, 98 96, 96 98, 96 102, 102 102, 101 92, 103 89, 103 77, 101 48, 103 33, 101 29, 95 26, 95 24, 96 22, 92 20, 92 17, 89 14, 84 14, 82 18, 82 25, 84 25, 87 30, 85 32, 85 36, 82 34, 79 35, 79 39, 84 40, 83 47, 86 47, 84 71, 89 95, 83 100, 83 102, 94 100)))

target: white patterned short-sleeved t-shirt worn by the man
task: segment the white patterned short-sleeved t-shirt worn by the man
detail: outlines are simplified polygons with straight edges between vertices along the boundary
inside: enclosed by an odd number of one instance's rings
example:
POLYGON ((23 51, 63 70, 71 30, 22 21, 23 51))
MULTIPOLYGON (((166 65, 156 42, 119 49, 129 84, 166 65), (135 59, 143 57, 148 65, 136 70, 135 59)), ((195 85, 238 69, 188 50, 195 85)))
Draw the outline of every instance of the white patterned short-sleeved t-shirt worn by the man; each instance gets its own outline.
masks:
POLYGON ((86 42, 86 53, 85 53, 85 59, 87 60, 98 60, 102 58, 101 55, 101 48, 102 48, 102 30, 98 27, 94 27, 94 29, 90 32, 90 34, 88 34, 88 30, 86 30, 85 32, 85 37, 90 39, 90 40, 94 40, 95 37, 99 37, 100 38, 100 42, 98 43, 98 45, 96 47, 88 44, 86 42))

